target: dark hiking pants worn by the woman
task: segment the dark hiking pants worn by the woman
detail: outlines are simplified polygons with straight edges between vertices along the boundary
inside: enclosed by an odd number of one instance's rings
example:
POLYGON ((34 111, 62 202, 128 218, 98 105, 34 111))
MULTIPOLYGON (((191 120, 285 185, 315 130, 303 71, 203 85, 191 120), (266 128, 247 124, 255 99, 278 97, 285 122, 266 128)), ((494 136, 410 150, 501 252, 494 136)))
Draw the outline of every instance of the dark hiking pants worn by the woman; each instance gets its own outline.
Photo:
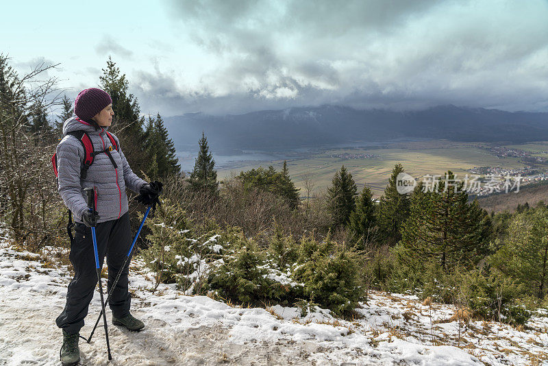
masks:
MULTIPOLYGON (((71 244, 69 259, 74 267, 74 278, 69 284, 66 292, 66 305, 64 310, 55 319, 59 328, 69 334, 76 334, 84 326, 84 318, 88 315, 88 306, 97 286, 97 269, 95 267, 95 254, 93 252, 93 241, 91 228, 83 223, 75 224, 75 238, 71 244)), ((129 212, 126 212, 119 219, 97 223, 95 227, 97 236, 97 252, 99 253, 99 264, 103 268, 103 258, 107 257, 108 265, 108 291, 116 279, 116 274, 123 265, 129 247, 132 245, 132 236, 129 229, 129 212)), ((129 262, 116 284, 112 297, 109 301, 112 315, 116 318, 125 317, 129 314, 131 295, 127 291, 127 273, 129 262)), ((105 291, 103 282, 103 291, 105 291)), ((106 295, 105 295, 106 301, 106 295)))

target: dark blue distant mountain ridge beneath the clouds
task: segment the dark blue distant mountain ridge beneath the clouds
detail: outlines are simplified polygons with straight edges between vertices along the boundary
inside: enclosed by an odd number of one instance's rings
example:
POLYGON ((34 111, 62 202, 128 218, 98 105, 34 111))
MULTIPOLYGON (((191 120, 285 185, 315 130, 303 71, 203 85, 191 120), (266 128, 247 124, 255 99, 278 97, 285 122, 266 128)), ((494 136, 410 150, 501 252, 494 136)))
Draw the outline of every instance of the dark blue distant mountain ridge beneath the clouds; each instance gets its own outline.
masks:
POLYGON ((505 112, 452 105, 408 112, 323 105, 222 117, 187 113, 166 117, 164 121, 177 149, 197 145, 202 130, 217 151, 280 151, 395 138, 510 143, 548 141, 547 112, 505 112))

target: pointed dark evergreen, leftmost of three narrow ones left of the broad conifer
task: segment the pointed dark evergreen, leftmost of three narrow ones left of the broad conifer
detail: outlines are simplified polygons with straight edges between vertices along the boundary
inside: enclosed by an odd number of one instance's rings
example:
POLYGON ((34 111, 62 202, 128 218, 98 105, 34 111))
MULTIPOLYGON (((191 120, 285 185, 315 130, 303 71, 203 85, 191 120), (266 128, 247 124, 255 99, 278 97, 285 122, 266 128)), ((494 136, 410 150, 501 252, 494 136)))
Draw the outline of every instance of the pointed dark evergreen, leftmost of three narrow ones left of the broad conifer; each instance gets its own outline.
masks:
POLYGON ((356 206, 357 194, 358 187, 352 179, 352 174, 343 165, 333 177, 332 186, 327 190, 329 212, 335 227, 348 223, 350 214, 356 206))

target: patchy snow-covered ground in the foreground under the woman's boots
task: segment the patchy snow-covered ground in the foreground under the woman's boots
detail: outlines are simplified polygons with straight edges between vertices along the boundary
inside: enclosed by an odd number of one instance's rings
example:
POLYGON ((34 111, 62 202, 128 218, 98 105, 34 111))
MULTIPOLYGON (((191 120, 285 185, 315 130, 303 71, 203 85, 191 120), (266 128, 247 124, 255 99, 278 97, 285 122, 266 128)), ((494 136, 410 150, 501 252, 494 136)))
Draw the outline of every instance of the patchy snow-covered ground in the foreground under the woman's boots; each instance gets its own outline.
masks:
MULTIPOLYGON (((51 267, 0 244, 0 365, 60 364, 55 317, 71 274, 51 267)), ((298 308, 279 305, 229 306, 170 285, 151 293, 153 274, 138 259, 129 278, 132 313, 146 328, 135 333, 109 324, 110 365, 548 365, 544 316, 522 330, 483 321, 459 327, 451 306, 371 293, 358 309, 363 318, 343 321, 324 309, 301 317, 298 308)), ((84 337, 100 309, 96 293, 84 337)), ((105 349, 100 323, 91 343, 80 340, 81 364, 107 364, 105 349)))

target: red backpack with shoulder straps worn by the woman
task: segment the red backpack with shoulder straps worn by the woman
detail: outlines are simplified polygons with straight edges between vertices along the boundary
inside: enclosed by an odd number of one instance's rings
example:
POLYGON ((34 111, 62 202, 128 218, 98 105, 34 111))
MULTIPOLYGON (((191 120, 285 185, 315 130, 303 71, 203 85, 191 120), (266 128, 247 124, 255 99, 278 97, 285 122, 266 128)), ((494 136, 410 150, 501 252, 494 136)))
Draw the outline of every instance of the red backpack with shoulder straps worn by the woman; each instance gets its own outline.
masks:
MULTIPOLYGON (((93 164, 93 161, 95 160, 95 156, 99 154, 103 154, 103 153, 107 154, 108 158, 110 158, 110 162, 112 162, 112 165, 114 165, 114 169, 118 167, 116 162, 114 162, 114 158, 112 158, 110 151, 112 151, 112 147, 114 147, 114 149, 118 151, 119 146, 116 143, 116 140, 114 140, 114 137, 112 137, 112 134, 110 134, 110 132, 108 131, 105 131, 105 132, 112 146, 109 146, 108 149, 104 149, 103 151, 95 151, 95 149, 93 149, 93 143, 91 142, 91 138, 86 132, 82 130, 78 130, 78 131, 73 131, 68 133, 69 135, 75 136, 75 138, 77 138, 78 141, 80 141, 80 143, 82 144, 82 147, 84 147, 84 162, 82 163, 82 168, 80 169, 81 179, 86 179, 86 177, 88 176, 88 169, 90 169, 91 164, 93 164)), ((53 156, 51 157, 51 164, 53 164, 53 173, 55 173, 55 178, 58 178, 57 152, 55 152, 55 154, 53 154, 53 156)), ((66 232, 67 234, 69 234, 69 239, 71 239, 71 244, 72 244, 74 237, 71 229, 73 228, 74 223, 73 223, 73 215, 70 209, 68 210, 67 215, 69 216, 69 223, 66 225, 66 232)))

